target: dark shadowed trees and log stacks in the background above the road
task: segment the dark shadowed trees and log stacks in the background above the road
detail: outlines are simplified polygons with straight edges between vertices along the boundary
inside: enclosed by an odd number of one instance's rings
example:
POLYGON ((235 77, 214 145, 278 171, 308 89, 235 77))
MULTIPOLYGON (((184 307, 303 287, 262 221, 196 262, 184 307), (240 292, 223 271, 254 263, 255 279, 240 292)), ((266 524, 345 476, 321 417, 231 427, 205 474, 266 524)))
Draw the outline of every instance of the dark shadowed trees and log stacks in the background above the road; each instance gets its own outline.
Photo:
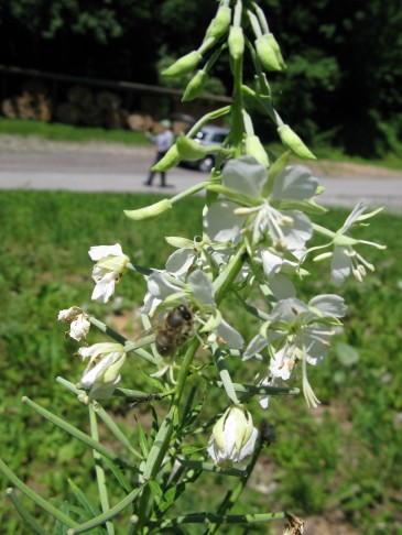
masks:
MULTIPOLYGON (((368 159, 401 154, 400 3, 260 4, 287 64, 270 75, 284 121, 314 146, 368 159)), ((180 103, 189 78, 160 70, 200 43, 215 10, 210 0, 1 0, 2 113, 139 130, 167 112, 197 118, 213 100, 180 103)), ((206 91, 230 97, 225 54, 206 91)), ((264 118, 258 129, 265 142, 275 135, 264 118)))

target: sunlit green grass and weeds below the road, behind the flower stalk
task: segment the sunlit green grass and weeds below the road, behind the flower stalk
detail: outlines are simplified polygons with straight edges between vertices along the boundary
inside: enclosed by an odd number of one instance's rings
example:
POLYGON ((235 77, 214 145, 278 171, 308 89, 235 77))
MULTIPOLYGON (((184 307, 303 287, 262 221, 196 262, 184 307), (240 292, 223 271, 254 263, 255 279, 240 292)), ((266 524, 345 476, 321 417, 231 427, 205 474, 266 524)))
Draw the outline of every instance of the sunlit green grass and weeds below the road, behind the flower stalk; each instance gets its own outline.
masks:
MULTIPOLYGON (((124 276, 118 290, 122 302, 91 304, 87 251, 90 245, 119 241, 135 263, 163 268, 172 250, 161 228, 166 236, 180 236, 183 229, 188 238, 199 234, 202 199, 177 205, 166 217, 148 225, 135 225, 122 215, 126 208, 154 200, 153 196, 129 194, 0 192, 0 450, 10 467, 45 496, 70 496, 67 477, 95 492, 88 481, 91 461, 80 444, 66 439, 20 398, 29 395, 86 428, 85 406, 55 383, 57 375, 74 382, 80 371, 74 358, 77 343, 63 338, 64 326, 56 316, 62 308, 83 305, 99 318, 106 313, 115 325, 128 319, 126 330, 135 335, 132 312, 142 303, 144 282, 124 276)), ((336 229, 345 217, 346 211, 332 210, 318 222, 336 229)), ((398 469, 402 463, 401 223, 401 217, 382 214, 365 231, 366 239, 385 243, 388 250, 370 248, 367 253, 376 273, 361 285, 350 281, 340 290, 349 304, 346 329, 328 359, 309 374, 323 405, 309 411, 302 397, 282 398, 263 413, 252 404, 257 423, 268 418, 276 440, 260 459, 250 490, 235 512, 289 510, 304 517, 324 516, 332 524, 341 520, 367 535, 402 533, 402 476, 398 469), (355 360, 345 359, 341 343, 355 348, 355 360)), ((305 281, 301 298, 337 291, 328 283, 328 266, 319 263, 316 268, 318 274, 305 281)), ((243 326, 247 318, 236 318, 236 314, 233 321, 243 326)), ((88 342, 99 340, 91 332, 88 342)), ((251 373, 239 362, 231 367, 240 381, 251 373)), ((143 380, 138 367, 128 365, 122 385, 138 386, 139 381, 143 380)), ((213 397, 207 412, 214 414, 221 403, 213 397)), ((109 410, 134 441, 134 416, 145 426, 150 418, 146 406, 130 411, 113 402, 109 410)), ((2 478, 0 487, 7 487, 2 478)), ((211 496, 219 500, 225 492, 224 482, 215 476, 203 477, 197 490, 197 501, 205 510, 211 509, 211 496)), ((181 511, 197 505, 194 501, 195 494, 180 502, 181 511)), ((9 504, 0 507, 0 524, 4 535, 24 533, 9 504)), ((256 527, 254 533, 267 533, 267 528, 256 527)))

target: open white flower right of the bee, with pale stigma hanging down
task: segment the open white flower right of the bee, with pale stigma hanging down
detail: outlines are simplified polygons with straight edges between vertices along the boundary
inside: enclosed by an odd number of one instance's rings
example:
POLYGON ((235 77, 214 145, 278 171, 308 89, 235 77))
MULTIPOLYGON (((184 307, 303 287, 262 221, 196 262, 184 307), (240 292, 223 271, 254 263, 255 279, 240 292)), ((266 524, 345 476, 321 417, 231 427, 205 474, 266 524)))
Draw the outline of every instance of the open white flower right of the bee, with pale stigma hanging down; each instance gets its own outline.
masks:
POLYGON ((315 365, 324 359, 335 335, 334 326, 340 325, 338 318, 346 308, 344 299, 334 294, 313 297, 308 305, 296 298, 280 301, 261 329, 263 336, 257 335, 250 341, 243 360, 270 347, 269 371, 284 381, 302 362, 303 393, 308 406, 316 407, 319 402, 308 383, 306 364, 315 365))

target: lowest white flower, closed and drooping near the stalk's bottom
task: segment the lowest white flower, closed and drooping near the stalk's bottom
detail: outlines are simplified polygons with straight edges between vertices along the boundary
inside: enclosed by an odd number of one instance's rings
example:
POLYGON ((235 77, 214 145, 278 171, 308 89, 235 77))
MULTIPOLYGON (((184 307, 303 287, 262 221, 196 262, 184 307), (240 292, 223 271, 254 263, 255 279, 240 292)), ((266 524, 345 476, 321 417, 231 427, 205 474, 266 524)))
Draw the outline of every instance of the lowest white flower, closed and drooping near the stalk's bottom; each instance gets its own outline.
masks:
POLYGON ((213 429, 207 451, 217 465, 231 466, 254 451, 258 430, 243 405, 231 405, 213 429))

